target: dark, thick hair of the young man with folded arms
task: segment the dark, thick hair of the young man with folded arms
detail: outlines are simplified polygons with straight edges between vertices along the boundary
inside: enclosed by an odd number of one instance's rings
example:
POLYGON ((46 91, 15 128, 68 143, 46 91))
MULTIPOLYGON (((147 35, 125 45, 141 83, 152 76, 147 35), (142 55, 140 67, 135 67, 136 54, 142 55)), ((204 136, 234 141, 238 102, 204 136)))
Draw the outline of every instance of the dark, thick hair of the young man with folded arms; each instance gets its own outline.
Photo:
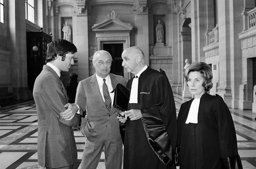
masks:
POLYGON ((64 61, 66 54, 74 54, 75 52, 77 52, 77 49, 73 43, 64 39, 56 39, 47 45, 47 56, 45 58, 45 63, 57 59, 57 55, 61 56, 61 60, 64 61))

